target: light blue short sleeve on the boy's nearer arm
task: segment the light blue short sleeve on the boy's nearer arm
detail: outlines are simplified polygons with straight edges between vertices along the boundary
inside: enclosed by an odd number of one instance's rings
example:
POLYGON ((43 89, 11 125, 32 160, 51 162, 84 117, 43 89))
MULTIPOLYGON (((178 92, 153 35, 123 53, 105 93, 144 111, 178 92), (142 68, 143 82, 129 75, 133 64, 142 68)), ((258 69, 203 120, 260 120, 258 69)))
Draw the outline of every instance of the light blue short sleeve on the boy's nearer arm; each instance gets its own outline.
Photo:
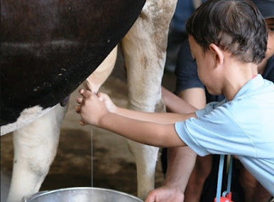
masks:
POLYGON ((256 149, 225 105, 209 103, 198 118, 175 123, 178 136, 198 155, 234 154, 256 157, 256 149))

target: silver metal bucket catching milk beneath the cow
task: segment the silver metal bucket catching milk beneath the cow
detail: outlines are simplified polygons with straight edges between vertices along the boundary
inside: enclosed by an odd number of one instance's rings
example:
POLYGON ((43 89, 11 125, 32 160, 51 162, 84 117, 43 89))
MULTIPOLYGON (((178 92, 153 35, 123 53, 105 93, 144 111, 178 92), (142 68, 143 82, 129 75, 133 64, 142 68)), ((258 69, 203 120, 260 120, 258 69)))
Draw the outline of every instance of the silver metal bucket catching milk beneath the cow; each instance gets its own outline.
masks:
POLYGON ((124 192, 105 188, 76 187, 38 192, 23 202, 143 202, 124 192))

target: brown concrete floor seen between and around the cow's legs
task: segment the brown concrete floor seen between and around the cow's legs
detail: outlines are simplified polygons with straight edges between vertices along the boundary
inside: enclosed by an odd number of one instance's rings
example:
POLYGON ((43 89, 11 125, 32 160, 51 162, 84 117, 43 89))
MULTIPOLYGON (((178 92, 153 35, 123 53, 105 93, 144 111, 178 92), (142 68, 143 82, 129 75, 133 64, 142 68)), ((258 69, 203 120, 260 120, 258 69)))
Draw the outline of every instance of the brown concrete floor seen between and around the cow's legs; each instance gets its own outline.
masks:
MULTIPOLYGON (((116 105, 125 107, 127 84, 123 59, 121 55, 119 57, 101 91, 110 94, 116 105)), ((174 75, 165 74, 163 83, 173 90, 174 75)), ((94 186, 136 195, 136 166, 125 138, 96 127, 80 126, 79 115, 74 110, 76 94, 77 90, 71 96, 62 124, 58 153, 40 190, 94 186)), ((1 201, 6 200, 10 186, 12 155, 12 134, 1 136, 1 201)), ((158 161, 155 186, 160 186, 163 180, 158 161)))

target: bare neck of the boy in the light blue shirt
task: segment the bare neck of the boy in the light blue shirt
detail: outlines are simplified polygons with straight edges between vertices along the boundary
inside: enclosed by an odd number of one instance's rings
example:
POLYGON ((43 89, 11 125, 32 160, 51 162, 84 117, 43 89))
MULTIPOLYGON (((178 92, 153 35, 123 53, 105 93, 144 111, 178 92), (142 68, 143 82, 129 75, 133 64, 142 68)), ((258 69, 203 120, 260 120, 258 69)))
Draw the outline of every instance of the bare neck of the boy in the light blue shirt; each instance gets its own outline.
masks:
POLYGON ((253 63, 232 62, 227 66, 225 83, 222 92, 228 101, 236 96, 237 92, 248 81, 258 75, 258 65, 253 63))

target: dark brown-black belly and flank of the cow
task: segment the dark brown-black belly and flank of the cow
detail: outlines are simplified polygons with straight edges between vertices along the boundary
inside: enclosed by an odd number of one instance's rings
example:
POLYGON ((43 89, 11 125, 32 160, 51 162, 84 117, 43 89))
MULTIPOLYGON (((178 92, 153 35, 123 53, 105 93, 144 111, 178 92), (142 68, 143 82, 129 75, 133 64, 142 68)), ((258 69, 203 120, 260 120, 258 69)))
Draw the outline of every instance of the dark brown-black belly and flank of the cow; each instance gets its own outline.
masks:
POLYGON ((145 0, 20 3, 1 0, 1 126, 71 94, 125 36, 145 0))

